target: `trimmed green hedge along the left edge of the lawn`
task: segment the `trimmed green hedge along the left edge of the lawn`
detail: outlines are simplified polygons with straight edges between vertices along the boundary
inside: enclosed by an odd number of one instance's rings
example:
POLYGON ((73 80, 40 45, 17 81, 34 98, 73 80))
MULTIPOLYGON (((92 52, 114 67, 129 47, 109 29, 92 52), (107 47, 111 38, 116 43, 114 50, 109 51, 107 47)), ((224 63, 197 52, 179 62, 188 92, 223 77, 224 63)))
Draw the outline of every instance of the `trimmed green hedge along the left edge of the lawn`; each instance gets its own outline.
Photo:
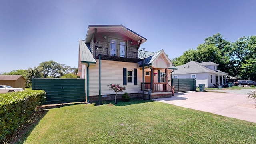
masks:
POLYGON ((46 100, 43 90, 0 94, 0 142, 15 131, 46 100))

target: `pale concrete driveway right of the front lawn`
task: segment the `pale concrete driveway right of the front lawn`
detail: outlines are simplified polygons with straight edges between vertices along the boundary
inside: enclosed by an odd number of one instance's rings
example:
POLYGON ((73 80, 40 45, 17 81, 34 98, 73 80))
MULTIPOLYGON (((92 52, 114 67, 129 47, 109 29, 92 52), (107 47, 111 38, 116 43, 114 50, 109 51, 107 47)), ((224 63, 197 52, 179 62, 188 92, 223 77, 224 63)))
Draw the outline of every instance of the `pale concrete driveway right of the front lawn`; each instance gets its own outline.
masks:
POLYGON ((248 90, 225 92, 175 93, 171 98, 153 100, 256 123, 256 101, 246 98, 248 90))

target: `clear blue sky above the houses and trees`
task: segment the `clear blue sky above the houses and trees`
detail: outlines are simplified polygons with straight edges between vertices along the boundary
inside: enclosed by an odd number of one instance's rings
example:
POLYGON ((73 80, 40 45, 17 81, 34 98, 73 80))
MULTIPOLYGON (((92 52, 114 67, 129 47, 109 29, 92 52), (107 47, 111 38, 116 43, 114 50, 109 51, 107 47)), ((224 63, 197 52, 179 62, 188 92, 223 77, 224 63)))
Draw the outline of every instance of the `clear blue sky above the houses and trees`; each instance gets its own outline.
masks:
POLYGON ((54 60, 78 66, 88 25, 116 25, 169 58, 217 32, 234 42, 256 35, 256 0, 0 0, 0 74, 54 60))

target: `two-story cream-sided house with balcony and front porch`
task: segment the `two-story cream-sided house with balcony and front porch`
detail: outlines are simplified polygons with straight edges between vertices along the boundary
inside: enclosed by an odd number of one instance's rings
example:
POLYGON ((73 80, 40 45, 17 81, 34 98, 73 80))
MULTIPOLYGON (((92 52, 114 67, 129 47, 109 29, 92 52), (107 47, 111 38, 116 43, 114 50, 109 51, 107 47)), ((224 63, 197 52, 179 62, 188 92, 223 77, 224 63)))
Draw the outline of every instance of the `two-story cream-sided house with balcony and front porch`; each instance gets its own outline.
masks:
MULTIPOLYGON (((147 52, 147 39, 123 25, 89 25, 79 40, 78 76, 86 80, 86 102, 114 99, 106 86, 125 86, 130 97, 173 95, 170 72, 176 69, 164 50, 147 52)), ((124 93, 120 93, 118 97, 124 93)))

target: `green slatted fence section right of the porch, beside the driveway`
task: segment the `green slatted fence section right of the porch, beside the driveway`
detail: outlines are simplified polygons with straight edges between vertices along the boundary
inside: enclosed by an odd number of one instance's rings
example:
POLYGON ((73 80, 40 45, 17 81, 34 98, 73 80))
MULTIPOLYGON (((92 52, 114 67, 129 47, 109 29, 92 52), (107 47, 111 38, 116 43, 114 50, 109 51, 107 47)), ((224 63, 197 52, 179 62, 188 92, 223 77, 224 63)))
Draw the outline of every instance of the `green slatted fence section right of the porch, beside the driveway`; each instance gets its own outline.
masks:
POLYGON ((196 79, 174 78, 172 79, 174 92, 196 91, 196 79))

